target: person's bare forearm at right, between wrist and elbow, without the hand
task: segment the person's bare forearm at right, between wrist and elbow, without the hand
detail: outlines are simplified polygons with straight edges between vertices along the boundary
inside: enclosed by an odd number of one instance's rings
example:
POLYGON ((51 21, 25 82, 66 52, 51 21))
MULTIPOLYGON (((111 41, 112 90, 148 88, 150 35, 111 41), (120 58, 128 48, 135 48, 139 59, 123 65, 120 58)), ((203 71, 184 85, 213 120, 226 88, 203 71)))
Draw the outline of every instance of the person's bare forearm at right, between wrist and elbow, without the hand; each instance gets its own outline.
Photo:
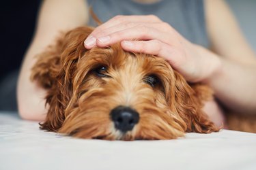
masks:
MULTIPOLYGON (((216 54, 202 50, 208 57, 216 54)), ((217 56, 220 65, 204 81, 214 89, 216 97, 227 107, 240 113, 256 113, 256 66, 217 56)))

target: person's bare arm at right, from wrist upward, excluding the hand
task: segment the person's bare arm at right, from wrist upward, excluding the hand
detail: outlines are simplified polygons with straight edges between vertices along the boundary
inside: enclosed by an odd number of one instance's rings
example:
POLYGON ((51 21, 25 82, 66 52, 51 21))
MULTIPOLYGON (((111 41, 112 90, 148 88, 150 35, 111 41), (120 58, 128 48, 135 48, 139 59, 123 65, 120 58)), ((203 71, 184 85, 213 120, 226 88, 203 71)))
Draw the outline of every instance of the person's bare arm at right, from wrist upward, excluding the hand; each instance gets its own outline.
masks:
MULTIPOLYGON (((225 1, 205 1, 212 49, 221 56, 221 67, 206 82, 216 97, 242 114, 256 113, 256 56, 242 35, 225 1)), ((214 53, 212 53, 214 55, 214 53)))

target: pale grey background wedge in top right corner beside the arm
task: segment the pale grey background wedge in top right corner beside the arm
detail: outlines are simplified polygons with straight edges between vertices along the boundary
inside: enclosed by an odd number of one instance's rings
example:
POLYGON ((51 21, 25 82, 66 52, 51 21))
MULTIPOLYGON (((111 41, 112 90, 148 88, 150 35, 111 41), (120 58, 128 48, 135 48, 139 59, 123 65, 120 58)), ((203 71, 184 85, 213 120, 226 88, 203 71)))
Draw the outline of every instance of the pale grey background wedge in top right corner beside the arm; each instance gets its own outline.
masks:
POLYGON ((256 0, 227 0, 227 2, 238 19, 246 39, 256 52, 256 0))

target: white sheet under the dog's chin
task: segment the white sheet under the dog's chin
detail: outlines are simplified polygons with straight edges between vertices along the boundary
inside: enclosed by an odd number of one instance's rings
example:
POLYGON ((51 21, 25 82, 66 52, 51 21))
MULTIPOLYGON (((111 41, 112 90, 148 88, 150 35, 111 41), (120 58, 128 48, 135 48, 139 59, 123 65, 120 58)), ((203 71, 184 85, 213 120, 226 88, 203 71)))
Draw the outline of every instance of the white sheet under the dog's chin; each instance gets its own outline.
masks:
POLYGON ((74 139, 0 113, 0 169, 256 169, 256 134, 223 130, 166 141, 74 139))

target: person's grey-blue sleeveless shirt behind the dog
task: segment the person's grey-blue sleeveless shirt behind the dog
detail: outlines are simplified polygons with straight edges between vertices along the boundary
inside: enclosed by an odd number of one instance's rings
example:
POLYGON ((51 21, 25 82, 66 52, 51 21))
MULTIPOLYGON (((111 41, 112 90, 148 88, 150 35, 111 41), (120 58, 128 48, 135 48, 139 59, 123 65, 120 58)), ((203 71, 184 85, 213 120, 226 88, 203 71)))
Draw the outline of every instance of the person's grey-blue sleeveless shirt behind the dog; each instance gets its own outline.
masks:
MULTIPOLYGON (((138 3, 132 0, 87 0, 102 22, 117 15, 154 14, 194 44, 208 48, 203 0, 160 0, 156 3, 138 3)), ((89 18, 89 25, 96 27, 89 18)))

